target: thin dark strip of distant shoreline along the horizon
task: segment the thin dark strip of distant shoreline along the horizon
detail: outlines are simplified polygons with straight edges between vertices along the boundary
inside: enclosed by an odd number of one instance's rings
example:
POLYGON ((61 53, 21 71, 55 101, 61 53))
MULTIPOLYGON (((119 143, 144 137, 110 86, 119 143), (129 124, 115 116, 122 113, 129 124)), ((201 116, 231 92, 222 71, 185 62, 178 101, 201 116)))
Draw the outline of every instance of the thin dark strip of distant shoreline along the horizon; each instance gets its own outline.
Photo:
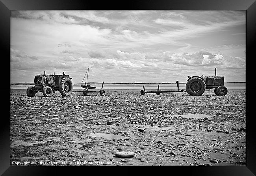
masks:
MULTIPOLYGON (((224 82, 224 83, 246 83, 246 82, 224 82)), ((87 84, 102 84, 99 82, 89 82, 87 84)), ((104 83, 104 84, 134 84, 134 83, 104 83)), ((142 82, 137 82, 135 84, 176 84, 176 83, 170 83, 170 82, 163 82, 163 83, 142 83, 142 82)), ((186 84, 186 82, 180 82, 180 84, 186 84)), ((34 83, 10 83, 10 85, 34 85, 34 83)), ((81 85, 81 83, 73 83, 73 85, 81 85)))

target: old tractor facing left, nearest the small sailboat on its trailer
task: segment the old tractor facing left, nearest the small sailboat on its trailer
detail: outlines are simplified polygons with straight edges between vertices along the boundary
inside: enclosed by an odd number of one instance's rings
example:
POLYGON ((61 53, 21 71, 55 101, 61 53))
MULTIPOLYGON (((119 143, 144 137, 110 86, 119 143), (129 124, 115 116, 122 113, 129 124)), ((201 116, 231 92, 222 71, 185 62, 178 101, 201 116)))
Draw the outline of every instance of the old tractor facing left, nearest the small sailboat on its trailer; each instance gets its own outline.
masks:
POLYGON ((42 92, 44 96, 53 96, 59 91, 62 96, 69 96, 73 91, 73 85, 69 75, 64 74, 39 74, 35 76, 35 86, 27 89, 28 97, 35 96, 35 93, 42 92))

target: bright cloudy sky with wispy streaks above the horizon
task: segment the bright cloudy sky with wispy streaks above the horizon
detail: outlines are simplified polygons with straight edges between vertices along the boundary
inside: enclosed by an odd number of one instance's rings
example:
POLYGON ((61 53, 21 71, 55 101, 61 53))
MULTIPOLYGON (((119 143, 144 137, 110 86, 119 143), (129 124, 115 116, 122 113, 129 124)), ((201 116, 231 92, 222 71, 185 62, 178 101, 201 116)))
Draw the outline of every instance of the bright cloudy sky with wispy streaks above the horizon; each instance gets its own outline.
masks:
POLYGON ((12 11, 11 83, 246 81, 245 11, 12 11))

